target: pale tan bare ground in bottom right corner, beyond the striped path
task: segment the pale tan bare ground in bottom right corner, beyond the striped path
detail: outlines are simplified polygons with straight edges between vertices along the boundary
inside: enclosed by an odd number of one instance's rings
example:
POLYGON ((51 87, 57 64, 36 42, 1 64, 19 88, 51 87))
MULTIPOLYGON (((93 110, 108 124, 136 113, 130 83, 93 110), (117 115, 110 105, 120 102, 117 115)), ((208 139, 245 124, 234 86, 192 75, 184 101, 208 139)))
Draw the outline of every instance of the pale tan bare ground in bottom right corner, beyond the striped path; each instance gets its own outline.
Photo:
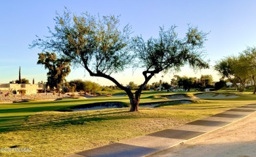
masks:
POLYGON ((148 157, 255 157, 256 112, 218 130, 148 157))

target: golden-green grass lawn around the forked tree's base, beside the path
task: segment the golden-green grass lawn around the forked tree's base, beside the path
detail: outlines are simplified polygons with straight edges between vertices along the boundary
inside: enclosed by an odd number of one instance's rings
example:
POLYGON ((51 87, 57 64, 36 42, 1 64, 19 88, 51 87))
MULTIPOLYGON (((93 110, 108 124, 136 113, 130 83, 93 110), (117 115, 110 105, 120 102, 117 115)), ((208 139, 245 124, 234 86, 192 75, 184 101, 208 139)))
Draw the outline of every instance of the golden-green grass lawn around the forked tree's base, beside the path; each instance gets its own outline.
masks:
MULTIPOLYGON (((142 94, 141 102, 169 101, 162 95, 170 93, 142 94)), ((128 103, 129 99, 127 96, 95 97, 1 104, 0 148, 32 148, 32 152, 2 151, 0 156, 64 156, 256 103, 256 96, 242 94, 235 99, 165 103, 157 108, 140 107, 137 113, 129 112, 129 108, 60 112, 75 105, 106 101, 128 103)))

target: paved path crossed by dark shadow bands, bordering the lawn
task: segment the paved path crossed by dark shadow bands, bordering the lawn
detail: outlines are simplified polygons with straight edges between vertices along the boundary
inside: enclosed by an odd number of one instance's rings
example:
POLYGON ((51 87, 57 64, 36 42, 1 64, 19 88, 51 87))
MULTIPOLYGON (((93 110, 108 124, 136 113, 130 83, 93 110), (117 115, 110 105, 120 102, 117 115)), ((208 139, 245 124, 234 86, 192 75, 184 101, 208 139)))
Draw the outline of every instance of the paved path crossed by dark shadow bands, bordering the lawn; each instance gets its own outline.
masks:
POLYGON ((202 120, 196 120, 182 126, 177 126, 173 129, 162 130, 156 133, 135 137, 133 139, 119 141, 118 143, 105 145, 103 147, 77 152, 68 155, 68 157, 148 156, 199 137, 205 133, 217 130, 223 126, 232 124, 255 111, 256 103, 244 105, 203 118, 202 120))

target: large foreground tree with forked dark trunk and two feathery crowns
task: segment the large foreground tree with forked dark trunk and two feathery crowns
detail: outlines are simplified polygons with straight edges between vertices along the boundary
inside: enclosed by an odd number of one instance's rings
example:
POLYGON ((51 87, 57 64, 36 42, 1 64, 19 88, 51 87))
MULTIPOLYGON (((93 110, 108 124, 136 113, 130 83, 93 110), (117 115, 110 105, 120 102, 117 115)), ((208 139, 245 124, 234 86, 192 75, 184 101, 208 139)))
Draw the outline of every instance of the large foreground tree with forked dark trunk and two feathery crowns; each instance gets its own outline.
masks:
POLYGON ((198 31, 197 27, 188 27, 183 39, 178 38, 175 26, 167 31, 160 28, 157 39, 144 41, 142 37, 129 39, 131 26, 119 29, 116 16, 76 16, 66 10, 54 20, 54 31, 49 29, 51 36, 38 38, 30 46, 58 52, 84 67, 92 77, 111 80, 129 96, 131 111, 138 111, 142 89, 161 71, 179 70, 186 63, 194 68, 209 67, 202 59, 201 50, 207 33, 198 31), (144 68, 144 82, 135 93, 111 76, 126 67, 144 68))

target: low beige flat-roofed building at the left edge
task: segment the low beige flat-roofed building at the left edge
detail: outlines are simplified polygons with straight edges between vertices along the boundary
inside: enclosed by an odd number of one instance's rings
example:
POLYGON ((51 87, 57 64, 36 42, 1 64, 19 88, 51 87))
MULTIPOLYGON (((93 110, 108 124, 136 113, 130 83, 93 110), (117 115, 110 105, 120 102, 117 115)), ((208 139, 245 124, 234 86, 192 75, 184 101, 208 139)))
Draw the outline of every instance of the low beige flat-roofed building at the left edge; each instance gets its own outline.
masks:
POLYGON ((2 95, 12 93, 13 91, 19 94, 18 90, 26 90, 26 94, 37 94, 43 92, 43 84, 0 84, 0 94, 2 95))

